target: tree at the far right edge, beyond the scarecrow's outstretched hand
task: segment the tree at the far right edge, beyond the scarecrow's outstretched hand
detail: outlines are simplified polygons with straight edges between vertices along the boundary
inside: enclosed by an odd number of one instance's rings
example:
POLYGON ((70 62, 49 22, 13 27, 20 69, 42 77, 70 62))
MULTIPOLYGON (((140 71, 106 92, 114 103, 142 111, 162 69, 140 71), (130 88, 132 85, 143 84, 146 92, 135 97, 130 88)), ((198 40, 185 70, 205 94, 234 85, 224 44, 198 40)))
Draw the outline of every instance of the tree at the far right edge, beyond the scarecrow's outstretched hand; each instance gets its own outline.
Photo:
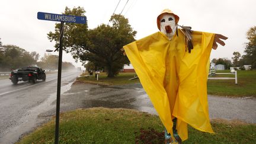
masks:
POLYGON ((256 69, 256 26, 249 28, 247 31, 247 39, 249 42, 244 50, 244 58, 252 65, 252 69, 256 69))

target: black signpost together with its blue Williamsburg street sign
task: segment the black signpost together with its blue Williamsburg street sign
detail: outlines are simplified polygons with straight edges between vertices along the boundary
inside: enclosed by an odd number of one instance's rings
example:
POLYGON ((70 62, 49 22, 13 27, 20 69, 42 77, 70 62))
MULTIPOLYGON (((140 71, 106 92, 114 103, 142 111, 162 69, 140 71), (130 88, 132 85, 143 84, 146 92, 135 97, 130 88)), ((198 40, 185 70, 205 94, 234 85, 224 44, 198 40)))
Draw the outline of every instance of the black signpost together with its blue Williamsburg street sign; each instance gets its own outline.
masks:
POLYGON ((58 75, 57 75, 57 100, 56 100, 56 123, 55 123, 55 144, 57 144, 59 143, 60 86, 61 86, 61 74, 62 74, 62 49, 63 49, 64 23, 66 22, 66 23, 85 24, 87 20, 86 20, 86 17, 78 17, 74 15, 50 14, 46 12, 37 12, 37 18, 39 20, 61 22, 60 23, 60 39, 59 39, 60 42, 58 47, 59 48, 59 64, 58 64, 58 75))

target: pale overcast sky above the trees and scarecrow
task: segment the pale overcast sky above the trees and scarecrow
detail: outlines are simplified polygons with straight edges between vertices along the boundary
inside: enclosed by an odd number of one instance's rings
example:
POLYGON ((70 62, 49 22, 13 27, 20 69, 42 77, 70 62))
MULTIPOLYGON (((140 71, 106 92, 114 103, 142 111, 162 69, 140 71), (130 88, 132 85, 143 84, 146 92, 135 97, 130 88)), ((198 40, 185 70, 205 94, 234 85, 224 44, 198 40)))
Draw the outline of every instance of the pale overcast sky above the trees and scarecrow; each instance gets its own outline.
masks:
MULTIPOLYGON (((54 42, 47 39, 47 33, 55 30, 54 21, 37 20, 37 12, 61 14, 65 7, 83 7, 86 11, 88 27, 95 28, 107 24, 119 0, 5 0, 0 5, 0 38, 2 44, 13 44, 28 52, 36 51, 43 56, 46 49, 53 49, 54 42)), ((121 0, 116 14, 124 8, 127 0, 121 0)), ((256 25, 255 0, 129 0, 122 15, 129 19, 137 31, 136 39, 141 39, 158 31, 156 17, 169 8, 180 17, 180 25, 190 25, 193 30, 219 33, 229 37, 226 46, 212 50, 211 59, 227 57, 233 52, 244 54, 246 33, 256 25)), ((58 55, 58 53, 53 53, 58 55)), ((75 63, 70 54, 64 53, 63 61, 75 63)))

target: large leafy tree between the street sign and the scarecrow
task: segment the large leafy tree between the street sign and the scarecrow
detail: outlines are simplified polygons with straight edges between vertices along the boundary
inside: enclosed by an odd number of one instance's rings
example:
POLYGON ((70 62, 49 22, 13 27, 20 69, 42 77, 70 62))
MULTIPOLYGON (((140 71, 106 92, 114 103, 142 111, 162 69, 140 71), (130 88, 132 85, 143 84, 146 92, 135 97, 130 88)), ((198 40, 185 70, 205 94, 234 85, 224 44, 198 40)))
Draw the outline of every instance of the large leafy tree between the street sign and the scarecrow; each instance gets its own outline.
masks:
MULTIPOLYGON (((65 9, 65 14, 84 15, 83 8, 65 9)), ((87 25, 66 24, 63 45, 66 52, 71 52, 73 58, 82 63, 93 62, 97 67, 105 67, 108 77, 113 77, 124 64, 129 63, 121 47, 134 41, 136 31, 133 31, 127 18, 123 15, 112 15, 110 25, 101 24, 88 30, 87 25)), ((59 25, 55 33, 50 32, 48 38, 59 41, 59 25)), ((59 43, 56 43, 56 47, 59 43)))

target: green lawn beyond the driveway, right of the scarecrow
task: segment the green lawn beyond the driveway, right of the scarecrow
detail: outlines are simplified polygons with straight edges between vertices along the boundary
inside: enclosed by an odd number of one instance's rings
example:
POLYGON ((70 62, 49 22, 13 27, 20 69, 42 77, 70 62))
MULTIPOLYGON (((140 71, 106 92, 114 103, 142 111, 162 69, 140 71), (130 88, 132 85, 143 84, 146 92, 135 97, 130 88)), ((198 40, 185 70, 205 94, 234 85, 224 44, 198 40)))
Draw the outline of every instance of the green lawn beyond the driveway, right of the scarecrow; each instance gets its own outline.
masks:
MULTIPOLYGON (((217 71, 229 73, 229 70, 217 71)), ((216 75, 234 77, 235 75, 216 75)), ((233 97, 256 97, 256 71, 238 71, 238 84, 235 80, 208 80, 207 93, 213 95, 228 95, 233 97)))

